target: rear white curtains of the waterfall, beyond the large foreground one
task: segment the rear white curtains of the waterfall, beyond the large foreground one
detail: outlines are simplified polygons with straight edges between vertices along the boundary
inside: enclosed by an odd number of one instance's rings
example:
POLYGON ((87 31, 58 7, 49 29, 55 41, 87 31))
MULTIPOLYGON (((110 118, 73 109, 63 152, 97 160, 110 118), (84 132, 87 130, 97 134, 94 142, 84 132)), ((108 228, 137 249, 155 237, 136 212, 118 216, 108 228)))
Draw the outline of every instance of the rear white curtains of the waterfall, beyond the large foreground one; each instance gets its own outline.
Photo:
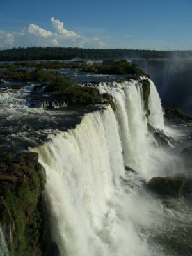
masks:
MULTIPOLYGON (((149 80, 150 81, 150 80, 149 80)), ((155 128, 164 129, 161 100, 154 83, 150 81, 151 91, 148 99, 148 108, 152 113, 151 124, 155 128), (155 98, 156 104, 152 100, 155 98), (158 125, 157 120, 160 124, 158 125)), ((154 138, 148 132, 146 111, 143 103, 142 84, 131 80, 122 83, 100 83, 100 93, 108 92, 113 96, 116 106, 116 120, 118 121, 120 138, 123 148, 124 164, 136 170, 149 179, 157 174, 159 155, 164 152, 154 150, 154 138), (156 172, 154 171, 156 166, 156 172)))

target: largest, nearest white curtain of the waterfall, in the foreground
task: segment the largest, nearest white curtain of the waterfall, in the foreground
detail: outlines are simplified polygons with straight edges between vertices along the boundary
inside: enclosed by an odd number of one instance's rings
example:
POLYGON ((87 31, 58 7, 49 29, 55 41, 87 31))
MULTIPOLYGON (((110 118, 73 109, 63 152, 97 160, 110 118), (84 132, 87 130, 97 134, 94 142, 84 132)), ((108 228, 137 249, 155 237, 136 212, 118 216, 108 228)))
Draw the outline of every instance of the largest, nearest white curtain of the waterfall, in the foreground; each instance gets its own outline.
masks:
POLYGON ((52 236, 61 255, 147 255, 131 221, 119 216, 123 205, 116 205, 124 163, 111 107, 87 114, 76 129, 35 150, 47 173, 52 236))

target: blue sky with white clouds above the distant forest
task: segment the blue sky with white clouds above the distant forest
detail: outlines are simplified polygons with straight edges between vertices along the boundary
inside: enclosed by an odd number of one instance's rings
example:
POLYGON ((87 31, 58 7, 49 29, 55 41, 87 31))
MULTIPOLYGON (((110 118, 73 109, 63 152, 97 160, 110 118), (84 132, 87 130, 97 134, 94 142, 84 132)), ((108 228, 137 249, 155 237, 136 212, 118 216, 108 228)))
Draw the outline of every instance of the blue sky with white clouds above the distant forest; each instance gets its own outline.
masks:
POLYGON ((192 50, 191 0, 0 0, 0 7, 1 48, 192 50))

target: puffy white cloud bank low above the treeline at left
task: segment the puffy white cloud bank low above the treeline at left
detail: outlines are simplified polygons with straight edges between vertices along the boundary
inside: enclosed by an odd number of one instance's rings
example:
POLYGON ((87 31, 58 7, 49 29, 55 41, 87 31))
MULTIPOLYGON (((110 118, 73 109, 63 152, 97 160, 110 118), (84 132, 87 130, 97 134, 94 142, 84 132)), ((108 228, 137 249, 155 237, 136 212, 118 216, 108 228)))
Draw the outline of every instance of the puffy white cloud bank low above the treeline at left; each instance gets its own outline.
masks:
POLYGON ((68 31, 60 20, 51 18, 52 31, 29 24, 20 32, 0 30, 0 48, 12 47, 104 47, 97 36, 87 38, 74 31, 68 31))

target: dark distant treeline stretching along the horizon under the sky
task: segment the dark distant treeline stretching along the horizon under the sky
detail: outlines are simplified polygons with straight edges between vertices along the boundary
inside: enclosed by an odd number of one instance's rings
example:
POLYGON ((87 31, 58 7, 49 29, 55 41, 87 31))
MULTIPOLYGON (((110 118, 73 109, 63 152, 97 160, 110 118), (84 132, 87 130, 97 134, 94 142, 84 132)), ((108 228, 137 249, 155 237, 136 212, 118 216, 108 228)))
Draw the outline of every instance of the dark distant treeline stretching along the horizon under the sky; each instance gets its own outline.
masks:
POLYGON ((168 59, 192 58, 192 51, 154 51, 128 49, 83 49, 72 47, 28 47, 0 51, 0 61, 68 60, 73 58, 111 60, 122 58, 168 59))

